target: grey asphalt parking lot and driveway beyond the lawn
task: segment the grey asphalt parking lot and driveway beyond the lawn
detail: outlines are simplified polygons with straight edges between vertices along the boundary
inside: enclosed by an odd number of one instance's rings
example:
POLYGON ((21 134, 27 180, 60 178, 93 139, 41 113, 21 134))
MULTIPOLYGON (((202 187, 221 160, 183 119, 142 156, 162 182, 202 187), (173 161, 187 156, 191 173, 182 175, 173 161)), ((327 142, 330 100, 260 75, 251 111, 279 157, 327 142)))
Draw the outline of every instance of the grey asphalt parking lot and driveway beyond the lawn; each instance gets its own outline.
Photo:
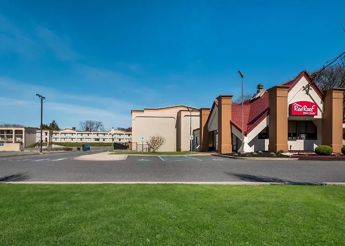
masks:
POLYGON ((133 156, 123 161, 74 160, 55 153, 0 158, 0 181, 345 182, 344 161, 258 161, 212 155, 133 156))

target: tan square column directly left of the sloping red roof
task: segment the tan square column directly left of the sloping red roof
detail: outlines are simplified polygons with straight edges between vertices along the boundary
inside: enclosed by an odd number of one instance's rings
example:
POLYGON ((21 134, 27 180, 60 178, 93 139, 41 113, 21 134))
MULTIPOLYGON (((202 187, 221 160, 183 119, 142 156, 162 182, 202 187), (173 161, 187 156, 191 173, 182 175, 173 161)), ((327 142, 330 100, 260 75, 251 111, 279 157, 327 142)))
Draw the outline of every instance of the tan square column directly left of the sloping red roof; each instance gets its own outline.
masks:
POLYGON ((218 152, 231 153, 231 98, 233 95, 220 95, 218 100, 218 152))

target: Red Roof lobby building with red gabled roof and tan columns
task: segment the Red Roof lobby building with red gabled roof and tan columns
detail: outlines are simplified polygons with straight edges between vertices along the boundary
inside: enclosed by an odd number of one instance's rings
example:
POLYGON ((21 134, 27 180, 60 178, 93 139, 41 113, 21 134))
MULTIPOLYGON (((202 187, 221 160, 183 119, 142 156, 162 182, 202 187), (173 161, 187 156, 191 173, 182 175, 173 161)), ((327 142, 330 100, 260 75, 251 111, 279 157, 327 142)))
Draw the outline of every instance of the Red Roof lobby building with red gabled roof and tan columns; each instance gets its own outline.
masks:
POLYGON ((344 88, 322 92, 306 71, 283 85, 263 89, 242 105, 220 95, 212 108, 200 109, 202 151, 220 153, 313 151, 318 145, 340 153, 345 144, 344 88), (242 144, 242 132, 244 143, 242 144), (342 134, 343 133, 343 134, 342 134))

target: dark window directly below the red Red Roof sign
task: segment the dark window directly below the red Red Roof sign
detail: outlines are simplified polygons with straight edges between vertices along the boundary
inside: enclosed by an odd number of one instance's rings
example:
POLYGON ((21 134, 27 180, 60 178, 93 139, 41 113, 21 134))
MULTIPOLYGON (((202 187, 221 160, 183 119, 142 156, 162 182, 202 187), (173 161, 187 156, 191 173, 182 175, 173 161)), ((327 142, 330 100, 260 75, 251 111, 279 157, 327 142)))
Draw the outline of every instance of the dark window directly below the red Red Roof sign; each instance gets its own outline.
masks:
POLYGON ((288 140, 316 140, 317 127, 312 121, 288 121, 288 140))

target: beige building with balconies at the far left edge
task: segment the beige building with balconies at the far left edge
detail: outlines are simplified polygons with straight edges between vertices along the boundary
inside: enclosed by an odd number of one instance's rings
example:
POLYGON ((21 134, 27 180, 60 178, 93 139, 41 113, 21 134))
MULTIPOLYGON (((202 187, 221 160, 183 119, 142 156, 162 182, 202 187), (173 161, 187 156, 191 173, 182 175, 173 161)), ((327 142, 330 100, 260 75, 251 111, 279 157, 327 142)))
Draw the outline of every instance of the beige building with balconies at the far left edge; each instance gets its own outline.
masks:
POLYGON ((22 151, 35 141, 35 127, 0 126, 0 151, 22 151))

